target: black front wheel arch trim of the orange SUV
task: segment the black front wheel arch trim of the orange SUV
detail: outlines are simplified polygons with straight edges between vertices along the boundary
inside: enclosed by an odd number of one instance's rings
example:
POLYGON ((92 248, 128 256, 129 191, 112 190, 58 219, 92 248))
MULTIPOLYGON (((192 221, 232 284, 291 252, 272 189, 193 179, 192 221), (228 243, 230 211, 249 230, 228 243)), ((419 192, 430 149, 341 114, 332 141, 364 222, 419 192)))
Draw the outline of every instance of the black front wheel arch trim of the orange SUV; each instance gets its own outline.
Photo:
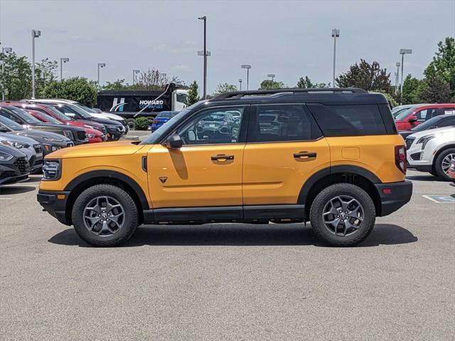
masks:
POLYGON ((71 211, 73 211, 73 205, 77 196, 85 191, 85 189, 95 186, 96 184, 112 184, 124 189, 132 196, 132 199, 136 203, 139 214, 139 224, 142 223, 143 211, 149 209, 149 202, 139 184, 125 174, 111 170, 97 170, 81 174, 65 187, 65 191, 70 192, 65 205, 66 218, 70 224, 72 224, 71 211))

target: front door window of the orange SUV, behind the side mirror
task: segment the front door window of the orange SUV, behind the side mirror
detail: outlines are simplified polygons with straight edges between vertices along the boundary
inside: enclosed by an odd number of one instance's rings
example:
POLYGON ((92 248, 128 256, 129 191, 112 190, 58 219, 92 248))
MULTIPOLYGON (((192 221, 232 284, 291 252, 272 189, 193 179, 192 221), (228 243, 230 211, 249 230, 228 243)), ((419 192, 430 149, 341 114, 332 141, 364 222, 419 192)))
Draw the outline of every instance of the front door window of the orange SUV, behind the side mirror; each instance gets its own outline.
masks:
POLYGON ((178 128, 183 145, 216 145, 239 142, 244 108, 218 108, 198 112, 178 128))

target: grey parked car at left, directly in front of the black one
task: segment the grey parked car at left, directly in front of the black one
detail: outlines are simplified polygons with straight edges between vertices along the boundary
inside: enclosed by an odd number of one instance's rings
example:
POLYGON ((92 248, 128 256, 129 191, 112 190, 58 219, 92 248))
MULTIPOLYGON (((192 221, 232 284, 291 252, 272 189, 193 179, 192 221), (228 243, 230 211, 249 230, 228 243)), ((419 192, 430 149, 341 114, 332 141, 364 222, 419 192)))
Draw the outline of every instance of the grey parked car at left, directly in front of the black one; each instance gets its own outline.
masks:
POLYGON ((73 147, 74 142, 68 137, 55 134, 53 132, 45 132, 42 130, 25 129, 22 125, 9 120, 0 115, 0 132, 9 132, 14 135, 30 137, 41 144, 43 155, 47 155, 55 150, 73 147))

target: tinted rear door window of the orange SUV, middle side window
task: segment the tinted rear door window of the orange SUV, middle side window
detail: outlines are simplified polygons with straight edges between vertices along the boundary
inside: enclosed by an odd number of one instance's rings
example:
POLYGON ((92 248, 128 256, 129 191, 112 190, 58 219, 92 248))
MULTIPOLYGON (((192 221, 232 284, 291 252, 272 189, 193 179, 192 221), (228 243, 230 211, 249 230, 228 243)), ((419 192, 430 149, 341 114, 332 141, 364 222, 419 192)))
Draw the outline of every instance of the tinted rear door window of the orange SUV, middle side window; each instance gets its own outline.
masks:
POLYGON ((251 115, 247 142, 305 141, 321 137, 301 105, 258 105, 251 115))

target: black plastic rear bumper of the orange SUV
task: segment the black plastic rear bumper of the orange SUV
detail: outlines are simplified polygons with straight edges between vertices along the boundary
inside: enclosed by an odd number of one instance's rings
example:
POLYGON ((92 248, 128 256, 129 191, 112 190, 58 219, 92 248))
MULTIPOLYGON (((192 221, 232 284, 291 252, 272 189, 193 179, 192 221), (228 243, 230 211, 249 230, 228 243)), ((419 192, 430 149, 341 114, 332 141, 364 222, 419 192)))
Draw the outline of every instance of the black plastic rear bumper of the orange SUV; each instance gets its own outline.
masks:
POLYGON ((392 182, 389 184, 375 184, 380 196, 380 211, 378 216, 388 216, 407 204, 412 196, 412 182, 392 182))

